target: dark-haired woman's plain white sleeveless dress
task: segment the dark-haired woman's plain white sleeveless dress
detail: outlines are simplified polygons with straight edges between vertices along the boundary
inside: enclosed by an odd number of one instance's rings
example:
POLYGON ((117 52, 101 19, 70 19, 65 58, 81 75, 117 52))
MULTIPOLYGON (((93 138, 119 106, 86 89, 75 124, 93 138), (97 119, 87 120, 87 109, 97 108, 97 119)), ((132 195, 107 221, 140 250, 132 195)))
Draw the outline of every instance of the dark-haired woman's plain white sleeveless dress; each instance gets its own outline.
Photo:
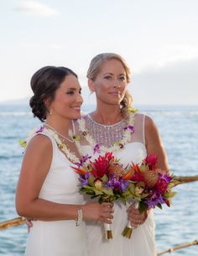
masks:
MULTIPOLYGON (((71 169, 72 163, 58 149, 54 138, 53 159, 48 175, 44 180, 39 198, 62 204, 82 204, 79 193, 78 175, 71 169)), ((33 222, 25 251, 26 256, 87 256, 86 225, 76 227, 74 220, 33 222)))

